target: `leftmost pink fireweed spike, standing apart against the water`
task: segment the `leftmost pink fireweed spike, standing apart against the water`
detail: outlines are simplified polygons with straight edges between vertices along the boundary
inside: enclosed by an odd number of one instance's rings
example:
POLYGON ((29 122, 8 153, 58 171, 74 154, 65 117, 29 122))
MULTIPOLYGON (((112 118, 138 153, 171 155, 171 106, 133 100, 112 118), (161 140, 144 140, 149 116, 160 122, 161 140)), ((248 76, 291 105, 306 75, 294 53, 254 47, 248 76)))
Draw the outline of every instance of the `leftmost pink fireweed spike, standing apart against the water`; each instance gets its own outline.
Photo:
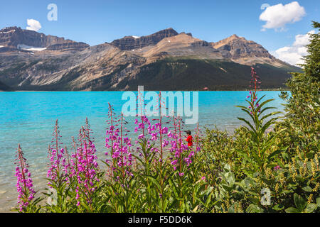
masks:
POLYGON ((23 157, 23 152, 21 150, 20 144, 18 145, 18 150, 16 152, 16 189, 18 192, 18 206, 19 211, 23 211, 26 206, 28 206, 32 199, 34 198, 34 194, 36 192, 33 189, 33 181, 31 179, 31 173, 28 171, 28 163, 26 163, 26 159, 23 157))

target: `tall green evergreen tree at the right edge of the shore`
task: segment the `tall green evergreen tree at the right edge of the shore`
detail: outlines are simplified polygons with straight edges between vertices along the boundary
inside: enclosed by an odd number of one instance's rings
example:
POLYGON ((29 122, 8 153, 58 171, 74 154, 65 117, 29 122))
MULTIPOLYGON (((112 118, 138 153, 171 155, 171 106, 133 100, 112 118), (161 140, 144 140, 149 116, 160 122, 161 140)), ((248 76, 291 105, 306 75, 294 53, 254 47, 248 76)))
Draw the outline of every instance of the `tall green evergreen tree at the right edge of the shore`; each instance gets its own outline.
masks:
POLYGON ((319 88, 320 88, 320 23, 313 21, 316 33, 310 35, 307 45, 308 55, 304 57, 304 64, 300 65, 303 72, 292 73, 287 82, 291 96, 282 93, 286 99, 286 116, 279 123, 280 128, 287 128, 284 143, 289 145, 291 153, 303 151, 309 156, 319 150, 319 88))

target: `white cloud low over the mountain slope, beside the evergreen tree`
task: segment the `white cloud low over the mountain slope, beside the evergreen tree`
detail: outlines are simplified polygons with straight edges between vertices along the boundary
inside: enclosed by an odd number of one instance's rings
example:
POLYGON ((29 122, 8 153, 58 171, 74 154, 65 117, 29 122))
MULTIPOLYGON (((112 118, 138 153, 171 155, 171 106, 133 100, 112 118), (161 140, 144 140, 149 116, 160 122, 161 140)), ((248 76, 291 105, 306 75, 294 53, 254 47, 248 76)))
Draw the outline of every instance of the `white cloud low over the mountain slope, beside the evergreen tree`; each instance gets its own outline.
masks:
POLYGON ((314 30, 309 31, 304 35, 296 35, 296 39, 291 46, 286 46, 284 48, 279 48, 274 51, 274 56, 279 58, 284 62, 287 62, 291 65, 303 64, 303 56, 306 56, 308 52, 306 51, 306 45, 310 43, 309 38, 310 34, 316 33, 314 30))

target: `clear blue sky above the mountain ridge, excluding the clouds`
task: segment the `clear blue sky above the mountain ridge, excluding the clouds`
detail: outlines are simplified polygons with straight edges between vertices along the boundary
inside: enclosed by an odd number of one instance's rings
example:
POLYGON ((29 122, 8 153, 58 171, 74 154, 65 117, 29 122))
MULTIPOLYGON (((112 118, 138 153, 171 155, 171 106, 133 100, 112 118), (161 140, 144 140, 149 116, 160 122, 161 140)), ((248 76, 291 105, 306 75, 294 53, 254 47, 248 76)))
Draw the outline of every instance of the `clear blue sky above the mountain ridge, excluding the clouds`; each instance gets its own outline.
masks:
POLYGON ((178 33, 216 42, 237 34, 274 51, 292 45, 295 36, 311 31, 311 21, 320 21, 318 0, 298 0, 305 15, 284 28, 267 28, 260 21, 262 4, 274 6, 292 1, 274 0, 24 0, 1 1, 0 28, 26 28, 27 19, 41 23, 38 32, 57 35, 90 45, 111 42, 124 35, 149 35, 172 27, 178 33), (58 6, 58 21, 48 21, 48 4, 58 6))

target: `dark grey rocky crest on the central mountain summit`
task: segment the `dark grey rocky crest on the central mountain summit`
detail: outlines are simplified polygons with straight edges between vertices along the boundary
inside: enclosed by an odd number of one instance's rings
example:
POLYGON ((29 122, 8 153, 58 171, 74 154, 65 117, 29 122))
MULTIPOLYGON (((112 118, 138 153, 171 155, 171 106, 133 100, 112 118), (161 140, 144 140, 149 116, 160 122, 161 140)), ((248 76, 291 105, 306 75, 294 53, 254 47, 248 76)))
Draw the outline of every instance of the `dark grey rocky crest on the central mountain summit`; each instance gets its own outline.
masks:
POLYGON ((118 40, 113 40, 112 45, 116 46, 120 50, 133 50, 138 48, 144 48, 149 45, 156 45, 162 39, 178 35, 173 28, 167 28, 157 33, 135 38, 134 36, 125 36, 118 40))

